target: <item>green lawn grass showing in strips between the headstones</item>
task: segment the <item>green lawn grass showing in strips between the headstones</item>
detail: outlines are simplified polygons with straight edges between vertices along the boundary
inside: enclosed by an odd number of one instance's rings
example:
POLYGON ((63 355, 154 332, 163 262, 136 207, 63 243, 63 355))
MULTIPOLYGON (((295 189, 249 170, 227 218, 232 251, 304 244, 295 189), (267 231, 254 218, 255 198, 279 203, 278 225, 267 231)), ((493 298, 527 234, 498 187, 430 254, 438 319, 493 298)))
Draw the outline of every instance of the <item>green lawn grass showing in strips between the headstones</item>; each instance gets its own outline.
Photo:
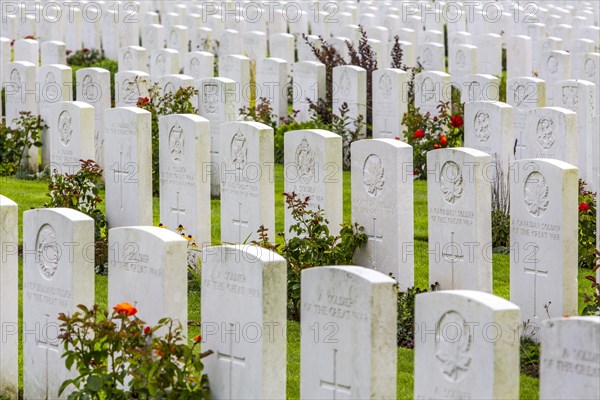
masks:
MULTIPOLYGON (((283 168, 277 165, 275 168, 275 193, 276 196, 276 230, 283 231, 283 168)), ((24 181, 14 178, 2 178, 0 181, 0 193, 16 201, 19 205, 19 242, 22 241, 22 213, 30 208, 42 207, 48 198, 46 181, 24 181)), ((415 214, 415 285, 421 288, 428 287, 428 254, 427 254, 427 183, 416 181, 414 185, 414 214, 415 214)), ((103 193, 102 193, 103 196, 103 193)), ((350 201, 350 174, 344 172, 344 220, 351 219, 350 201)), ((153 199, 154 224, 158 225, 159 201, 153 199)), ((219 201, 212 201, 212 239, 219 243, 220 235, 220 207, 219 201)), ((21 263, 19 263, 21 270, 21 263)), ((493 255, 494 270, 494 293, 498 296, 509 298, 509 270, 510 263, 507 255, 493 255)), ((583 308, 582 294, 590 293, 589 285, 584 277, 589 270, 581 270, 579 273, 579 310, 583 308)), ((20 286, 21 287, 21 286, 20 286)), ((21 291, 21 289, 19 289, 21 291)), ((107 306, 108 282, 104 276, 96 276, 96 302, 107 306)), ((21 296, 19 296, 19 318, 22 316, 21 296)), ((200 293, 197 290, 189 291, 188 316, 191 320, 200 319, 200 293)), ((190 337, 197 332, 190 329, 190 337)), ((289 321, 287 327, 287 395, 288 398, 300 397, 300 326, 297 322, 289 321)), ((22 344, 19 344, 22 353, 22 344)), ((21 358, 21 356, 19 357, 21 358)), ((20 362, 22 365, 22 362, 20 362)), ((22 376, 22 371, 20 371, 22 376)), ((22 380, 20 382, 22 388, 22 380)), ((409 349, 398 349, 398 398, 412 398, 413 393, 413 351, 409 349)), ((521 398, 538 398, 538 380, 529 376, 521 375, 521 398)))

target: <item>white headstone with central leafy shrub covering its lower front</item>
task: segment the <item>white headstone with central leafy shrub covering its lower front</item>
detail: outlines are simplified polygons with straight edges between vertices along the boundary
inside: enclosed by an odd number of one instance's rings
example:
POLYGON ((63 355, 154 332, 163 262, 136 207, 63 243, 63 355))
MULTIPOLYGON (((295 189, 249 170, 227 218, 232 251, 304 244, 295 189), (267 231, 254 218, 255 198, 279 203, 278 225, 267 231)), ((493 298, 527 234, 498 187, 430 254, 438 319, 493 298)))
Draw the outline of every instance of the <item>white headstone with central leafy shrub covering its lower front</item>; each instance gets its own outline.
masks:
MULTIPOLYGON (((284 192, 310 197, 310 209, 325 210, 329 231, 337 235, 343 221, 342 137, 322 129, 286 132, 284 160, 284 192)), ((295 223, 286 208, 286 235, 293 236, 289 228, 295 223)))

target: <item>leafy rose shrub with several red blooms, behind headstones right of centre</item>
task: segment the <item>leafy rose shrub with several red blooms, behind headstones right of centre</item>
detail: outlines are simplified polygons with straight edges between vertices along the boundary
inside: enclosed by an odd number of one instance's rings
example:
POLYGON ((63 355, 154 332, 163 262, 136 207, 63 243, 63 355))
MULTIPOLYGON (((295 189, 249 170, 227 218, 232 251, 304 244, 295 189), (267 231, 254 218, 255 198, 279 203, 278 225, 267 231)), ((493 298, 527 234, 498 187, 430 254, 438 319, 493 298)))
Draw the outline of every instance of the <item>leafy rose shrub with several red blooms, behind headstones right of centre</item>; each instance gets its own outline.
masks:
POLYGON ((402 118, 405 127, 403 140, 413 146, 414 174, 418 178, 427 178, 427 152, 460 146, 464 137, 462 105, 452 114, 450 104, 440 102, 439 116, 431 116, 429 112, 422 114, 419 108, 409 103, 408 112, 402 118))

